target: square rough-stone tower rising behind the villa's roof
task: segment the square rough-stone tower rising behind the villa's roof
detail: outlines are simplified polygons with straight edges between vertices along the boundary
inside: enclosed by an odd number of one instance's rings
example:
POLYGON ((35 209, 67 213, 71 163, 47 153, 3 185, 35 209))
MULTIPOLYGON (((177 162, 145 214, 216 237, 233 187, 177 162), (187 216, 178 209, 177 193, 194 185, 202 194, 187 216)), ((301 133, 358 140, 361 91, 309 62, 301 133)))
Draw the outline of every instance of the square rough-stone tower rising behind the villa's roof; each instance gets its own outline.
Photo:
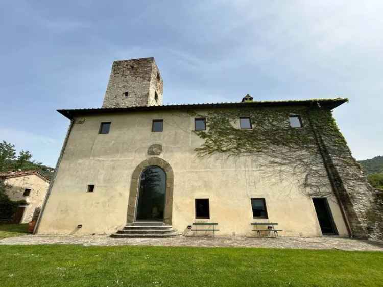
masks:
POLYGON ((103 108, 162 105, 163 81, 154 58, 114 61, 103 108))

